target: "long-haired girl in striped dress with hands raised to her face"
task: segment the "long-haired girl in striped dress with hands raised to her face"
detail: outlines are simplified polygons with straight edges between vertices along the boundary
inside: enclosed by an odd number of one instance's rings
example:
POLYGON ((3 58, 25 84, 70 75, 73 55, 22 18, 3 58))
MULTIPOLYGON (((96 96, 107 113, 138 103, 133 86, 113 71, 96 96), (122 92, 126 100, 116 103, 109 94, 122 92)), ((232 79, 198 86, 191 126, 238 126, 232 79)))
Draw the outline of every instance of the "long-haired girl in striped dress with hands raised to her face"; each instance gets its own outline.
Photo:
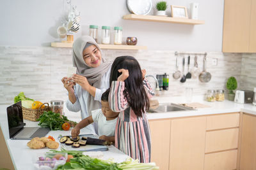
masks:
POLYGON ((112 64, 109 84, 109 105, 120 112, 115 130, 115 146, 133 159, 150 162, 150 129, 146 117, 149 99, 154 92, 131 56, 117 57, 112 64))

